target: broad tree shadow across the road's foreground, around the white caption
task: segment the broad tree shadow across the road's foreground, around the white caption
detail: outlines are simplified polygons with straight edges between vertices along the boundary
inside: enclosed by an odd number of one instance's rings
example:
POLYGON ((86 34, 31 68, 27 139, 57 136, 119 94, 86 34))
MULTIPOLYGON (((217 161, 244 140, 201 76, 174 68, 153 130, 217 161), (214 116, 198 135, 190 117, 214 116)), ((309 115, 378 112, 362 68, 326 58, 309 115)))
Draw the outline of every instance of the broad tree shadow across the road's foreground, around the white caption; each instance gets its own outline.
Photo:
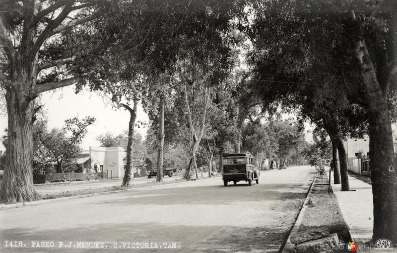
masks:
POLYGON ((252 228, 222 226, 165 226, 158 223, 125 223, 125 224, 97 224, 95 227, 79 227, 64 230, 28 231, 24 229, 0 230, 7 238, 17 238, 26 244, 26 248, 2 248, 2 253, 22 252, 164 252, 164 249, 132 249, 123 248, 122 242, 156 243, 159 247, 163 243, 177 243, 180 248, 167 249, 170 252, 278 252, 285 240, 287 231, 268 227, 252 228), (219 232, 220 233, 214 233, 219 232), (179 241, 183 236, 189 241, 179 241), (204 236, 204 237, 203 237, 204 236), (31 248, 31 242, 52 241, 56 248, 31 248), (59 242, 71 249, 58 248, 59 242), (104 242, 105 249, 77 249, 76 242, 104 242), (122 248, 114 248, 114 243, 122 248))

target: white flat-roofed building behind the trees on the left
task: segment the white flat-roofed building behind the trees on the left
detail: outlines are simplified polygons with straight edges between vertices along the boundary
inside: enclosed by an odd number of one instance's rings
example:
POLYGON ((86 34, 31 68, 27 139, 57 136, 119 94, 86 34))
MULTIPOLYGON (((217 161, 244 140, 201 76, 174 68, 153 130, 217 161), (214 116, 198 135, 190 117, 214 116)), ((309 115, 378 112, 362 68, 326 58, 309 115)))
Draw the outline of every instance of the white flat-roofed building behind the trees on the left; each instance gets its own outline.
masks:
POLYGON ((124 176, 124 149, 121 147, 90 147, 83 151, 91 158, 91 168, 107 172, 109 178, 123 178, 124 176))

